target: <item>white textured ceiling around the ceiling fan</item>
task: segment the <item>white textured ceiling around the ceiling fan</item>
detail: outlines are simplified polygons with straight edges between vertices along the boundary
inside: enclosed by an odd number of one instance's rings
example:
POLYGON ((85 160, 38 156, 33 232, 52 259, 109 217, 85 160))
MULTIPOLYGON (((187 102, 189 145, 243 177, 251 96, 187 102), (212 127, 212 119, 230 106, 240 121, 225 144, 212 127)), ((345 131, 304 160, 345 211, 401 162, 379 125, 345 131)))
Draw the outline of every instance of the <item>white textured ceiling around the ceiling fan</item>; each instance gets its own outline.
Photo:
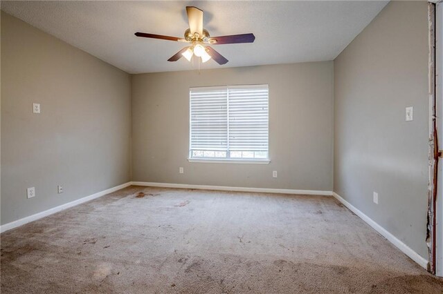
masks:
MULTIPOLYGON (((254 43, 213 46, 229 62, 201 68, 334 59, 388 1, 1 1, 1 10, 129 73, 191 70, 185 44, 134 36, 183 37, 185 6, 204 10, 210 35, 253 32, 254 43)), ((197 65, 195 65, 197 66, 197 65)))

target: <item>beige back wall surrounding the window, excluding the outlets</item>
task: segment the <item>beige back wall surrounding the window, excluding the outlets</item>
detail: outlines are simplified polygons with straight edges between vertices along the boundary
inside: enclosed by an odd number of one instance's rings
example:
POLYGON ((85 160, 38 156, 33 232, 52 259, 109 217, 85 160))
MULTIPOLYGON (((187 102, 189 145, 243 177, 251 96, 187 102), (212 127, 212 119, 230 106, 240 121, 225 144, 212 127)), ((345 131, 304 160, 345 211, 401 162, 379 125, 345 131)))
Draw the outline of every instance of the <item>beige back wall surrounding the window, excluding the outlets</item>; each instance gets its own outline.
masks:
POLYGON ((325 61, 133 75, 132 180, 332 190, 333 71, 325 61), (271 163, 189 163, 189 88, 235 84, 269 84, 271 163))

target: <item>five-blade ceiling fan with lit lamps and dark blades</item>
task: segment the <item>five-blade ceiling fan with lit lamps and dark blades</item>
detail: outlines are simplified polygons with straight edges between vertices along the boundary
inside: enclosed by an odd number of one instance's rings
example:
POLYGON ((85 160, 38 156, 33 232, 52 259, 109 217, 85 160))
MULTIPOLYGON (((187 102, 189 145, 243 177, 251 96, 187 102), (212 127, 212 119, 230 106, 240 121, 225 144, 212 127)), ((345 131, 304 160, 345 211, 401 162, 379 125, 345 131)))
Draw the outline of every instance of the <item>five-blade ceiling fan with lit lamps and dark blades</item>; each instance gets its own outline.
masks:
POLYGON ((148 34, 145 32, 136 32, 137 37, 163 39, 169 41, 179 41, 189 43, 187 46, 173 55, 168 61, 177 61, 182 56, 190 61, 192 56, 200 57, 202 62, 213 58, 217 63, 225 64, 228 59, 220 55, 208 45, 233 44, 233 43, 253 43, 254 34, 229 35, 221 37, 210 37, 209 32, 203 28, 203 10, 194 6, 186 6, 188 14, 189 28, 185 31, 184 38, 170 37, 163 35, 148 34))

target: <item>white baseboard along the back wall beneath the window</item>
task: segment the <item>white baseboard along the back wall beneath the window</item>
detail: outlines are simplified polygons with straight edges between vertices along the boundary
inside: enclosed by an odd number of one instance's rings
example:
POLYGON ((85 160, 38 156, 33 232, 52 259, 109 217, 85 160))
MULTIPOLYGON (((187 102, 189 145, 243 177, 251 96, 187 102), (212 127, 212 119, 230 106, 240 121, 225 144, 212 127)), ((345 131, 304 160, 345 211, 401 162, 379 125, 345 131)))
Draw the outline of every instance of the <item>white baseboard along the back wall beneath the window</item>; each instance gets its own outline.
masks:
POLYGON ((323 190, 248 188, 248 187, 207 186, 207 185, 170 184, 170 183, 152 183, 152 182, 132 182, 131 184, 134 186, 150 186, 150 187, 161 187, 161 188, 182 188, 182 189, 220 190, 220 191, 253 192, 253 193, 278 193, 278 194, 332 196, 332 191, 323 191, 323 190))

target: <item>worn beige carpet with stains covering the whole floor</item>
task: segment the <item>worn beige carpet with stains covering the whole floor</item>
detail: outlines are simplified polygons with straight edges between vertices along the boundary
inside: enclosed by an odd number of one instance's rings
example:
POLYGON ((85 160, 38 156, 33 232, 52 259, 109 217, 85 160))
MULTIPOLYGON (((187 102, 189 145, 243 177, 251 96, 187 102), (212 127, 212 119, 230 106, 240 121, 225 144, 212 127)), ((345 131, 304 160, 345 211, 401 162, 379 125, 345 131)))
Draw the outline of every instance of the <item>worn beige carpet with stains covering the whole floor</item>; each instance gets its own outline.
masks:
POLYGON ((1 293, 443 293, 322 196, 131 186, 1 234, 0 261, 1 293))

